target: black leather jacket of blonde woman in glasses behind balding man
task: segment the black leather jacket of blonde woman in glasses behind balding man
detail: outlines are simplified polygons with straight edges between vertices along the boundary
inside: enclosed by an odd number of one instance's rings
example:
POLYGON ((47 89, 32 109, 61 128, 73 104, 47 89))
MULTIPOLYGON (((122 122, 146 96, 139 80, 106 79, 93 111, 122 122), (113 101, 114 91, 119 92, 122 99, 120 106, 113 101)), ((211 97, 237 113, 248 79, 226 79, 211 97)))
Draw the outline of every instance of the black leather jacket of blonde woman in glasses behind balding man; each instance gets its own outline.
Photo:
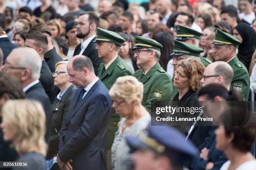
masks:
POLYGON ((74 84, 70 85, 61 99, 55 97, 52 103, 53 116, 51 120, 50 138, 48 140, 48 153, 46 158, 49 160, 57 155, 59 150, 59 131, 61 125, 65 122, 66 116, 69 112, 69 105, 77 90, 74 84))

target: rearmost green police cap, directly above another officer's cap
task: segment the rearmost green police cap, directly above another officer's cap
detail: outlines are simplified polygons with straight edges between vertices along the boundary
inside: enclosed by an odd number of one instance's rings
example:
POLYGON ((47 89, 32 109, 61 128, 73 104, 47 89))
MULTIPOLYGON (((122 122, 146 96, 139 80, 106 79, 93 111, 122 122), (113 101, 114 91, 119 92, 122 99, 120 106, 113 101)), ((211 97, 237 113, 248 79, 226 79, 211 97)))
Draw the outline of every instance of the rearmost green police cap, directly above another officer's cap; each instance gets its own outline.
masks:
POLYGON ((200 39, 200 36, 202 35, 201 32, 198 32, 193 28, 184 27, 181 25, 175 26, 175 30, 177 32, 175 40, 189 40, 191 38, 200 39))

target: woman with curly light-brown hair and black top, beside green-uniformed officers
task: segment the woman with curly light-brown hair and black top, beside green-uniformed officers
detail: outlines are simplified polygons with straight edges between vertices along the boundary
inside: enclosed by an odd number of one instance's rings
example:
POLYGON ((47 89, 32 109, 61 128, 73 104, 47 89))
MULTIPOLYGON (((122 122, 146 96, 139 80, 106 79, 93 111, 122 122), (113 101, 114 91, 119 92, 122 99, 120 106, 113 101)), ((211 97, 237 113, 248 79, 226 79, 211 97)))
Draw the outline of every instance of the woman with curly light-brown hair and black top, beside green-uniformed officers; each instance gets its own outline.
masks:
POLYGON ((198 100, 200 80, 203 77, 205 66, 194 57, 187 58, 178 66, 174 75, 174 87, 178 89, 173 101, 198 100))

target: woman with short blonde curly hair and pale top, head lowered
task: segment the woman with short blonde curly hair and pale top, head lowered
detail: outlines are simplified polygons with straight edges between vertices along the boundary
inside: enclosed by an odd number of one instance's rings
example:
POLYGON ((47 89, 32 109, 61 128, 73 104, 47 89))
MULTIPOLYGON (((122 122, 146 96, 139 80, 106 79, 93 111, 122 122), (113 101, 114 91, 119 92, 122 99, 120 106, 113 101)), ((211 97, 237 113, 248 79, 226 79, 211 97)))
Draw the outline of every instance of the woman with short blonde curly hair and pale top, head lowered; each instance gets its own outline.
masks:
POLYGON ((112 169, 129 169, 125 161, 129 160, 129 147, 125 136, 138 136, 146 129, 151 117, 141 105, 143 84, 133 76, 119 77, 109 91, 113 99, 115 112, 122 116, 118 131, 111 148, 112 169))

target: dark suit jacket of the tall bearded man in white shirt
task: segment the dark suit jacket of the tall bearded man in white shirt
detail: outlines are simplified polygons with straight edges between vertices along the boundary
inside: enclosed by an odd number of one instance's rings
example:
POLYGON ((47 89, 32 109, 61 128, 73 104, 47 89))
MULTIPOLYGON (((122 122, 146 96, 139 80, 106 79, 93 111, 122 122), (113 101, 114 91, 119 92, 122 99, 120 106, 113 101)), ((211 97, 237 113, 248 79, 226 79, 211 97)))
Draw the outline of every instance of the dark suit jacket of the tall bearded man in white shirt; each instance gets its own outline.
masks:
MULTIPOLYGON (((98 56, 98 51, 95 49, 97 43, 94 43, 93 41, 95 40, 95 37, 91 40, 91 42, 88 44, 88 46, 85 48, 84 52, 82 55, 89 57, 92 60, 92 65, 94 68, 95 75, 98 75, 98 68, 100 66, 100 63, 102 60, 98 56)), ((82 43, 76 46, 74 50, 74 55, 79 55, 81 49, 82 43)))

